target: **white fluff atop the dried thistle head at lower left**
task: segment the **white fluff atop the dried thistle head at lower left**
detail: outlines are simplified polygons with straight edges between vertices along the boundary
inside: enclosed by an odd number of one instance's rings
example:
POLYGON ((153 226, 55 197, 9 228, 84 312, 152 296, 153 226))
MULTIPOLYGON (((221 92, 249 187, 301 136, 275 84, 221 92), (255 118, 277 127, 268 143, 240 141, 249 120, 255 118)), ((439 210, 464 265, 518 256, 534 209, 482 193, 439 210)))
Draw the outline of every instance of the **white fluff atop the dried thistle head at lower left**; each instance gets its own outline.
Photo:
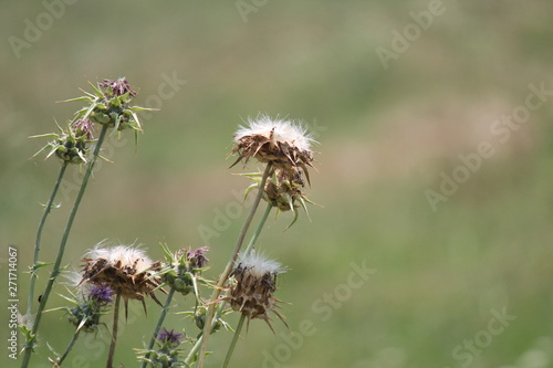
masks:
POLYGON ((118 269, 123 269, 128 265, 134 267, 137 273, 149 269, 153 263, 153 261, 146 255, 146 252, 138 249, 136 245, 116 245, 105 248, 103 246, 103 243, 97 244, 94 249, 86 253, 85 259, 104 259, 109 265, 117 266, 118 269))

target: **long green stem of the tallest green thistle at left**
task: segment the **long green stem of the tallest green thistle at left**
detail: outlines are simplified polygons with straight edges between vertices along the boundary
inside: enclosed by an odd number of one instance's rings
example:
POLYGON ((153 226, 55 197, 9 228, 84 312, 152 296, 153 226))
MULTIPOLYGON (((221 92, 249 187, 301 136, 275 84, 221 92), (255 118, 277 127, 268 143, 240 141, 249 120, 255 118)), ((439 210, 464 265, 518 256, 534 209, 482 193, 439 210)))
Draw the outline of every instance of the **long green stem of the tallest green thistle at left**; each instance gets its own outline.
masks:
POLYGON ((103 125, 102 126, 102 132, 100 133, 98 140, 96 143, 96 147, 94 147, 94 153, 92 155, 91 161, 88 162, 88 167, 86 168, 86 172, 84 174, 83 182, 81 183, 81 189, 79 190, 79 193, 75 199, 75 203, 73 204, 73 208, 71 209, 70 217, 67 219, 67 224, 65 225, 65 230, 63 232, 62 241, 60 243, 60 249, 58 250, 58 256, 55 259, 54 267, 52 272, 50 273, 50 278, 48 280, 46 288, 44 290, 44 293, 42 294, 41 302, 39 304, 39 309, 36 311, 36 316, 34 318, 34 323, 31 329, 31 340, 27 341, 24 346, 24 355, 21 364, 21 368, 27 368, 29 366, 29 361, 31 360, 31 354, 33 350, 33 345, 34 340, 36 338, 36 332, 39 330, 40 326, 40 320, 42 317, 42 312, 44 311, 44 307, 46 306, 48 298, 50 296, 50 293, 52 292, 52 287, 54 285, 55 278, 60 274, 60 265, 62 263, 63 259, 63 253, 65 251, 65 245, 67 243, 67 238, 71 232, 71 228, 73 225, 73 220, 75 219, 76 212, 79 210, 79 204, 81 204, 81 200, 83 199, 84 191, 86 189, 86 185, 88 183, 88 179, 92 174, 92 169, 94 168, 94 164, 96 162, 96 159, 100 156, 100 147, 104 143, 104 139, 106 137, 108 126, 103 125))

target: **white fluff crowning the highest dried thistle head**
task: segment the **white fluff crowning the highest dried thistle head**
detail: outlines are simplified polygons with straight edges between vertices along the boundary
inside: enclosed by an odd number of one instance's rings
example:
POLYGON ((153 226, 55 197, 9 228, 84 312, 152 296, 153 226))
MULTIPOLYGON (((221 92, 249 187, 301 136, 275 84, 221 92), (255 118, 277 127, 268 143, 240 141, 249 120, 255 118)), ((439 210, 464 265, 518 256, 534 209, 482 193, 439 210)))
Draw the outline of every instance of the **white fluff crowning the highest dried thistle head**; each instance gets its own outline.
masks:
POLYGON ((268 115, 261 115, 257 119, 248 119, 248 126, 240 126, 234 135, 234 141, 247 136, 263 136, 267 139, 285 141, 298 147, 300 150, 311 150, 311 144, 316 143, 307 129, 299 123, 285 119, 272 119, 268 115))

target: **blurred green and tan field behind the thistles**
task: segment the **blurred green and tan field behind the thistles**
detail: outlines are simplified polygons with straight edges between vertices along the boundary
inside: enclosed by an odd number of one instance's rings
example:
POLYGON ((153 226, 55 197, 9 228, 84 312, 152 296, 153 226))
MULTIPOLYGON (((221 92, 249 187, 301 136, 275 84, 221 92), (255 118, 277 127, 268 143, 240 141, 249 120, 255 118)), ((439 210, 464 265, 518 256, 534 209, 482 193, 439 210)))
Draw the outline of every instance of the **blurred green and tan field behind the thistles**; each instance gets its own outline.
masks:
MULTIPOLYGON (((126 76, 139 87, 136 104, 160 111, 143 115, 136 151, 128 132, 104 151, 114 164, 95 172, 64 263, 79 267, 104 239, 144 244, 159 259, 157 244, 166 241, 174 249, 210 245, 215 277, 246 218, 240 213, 207 241, 200 235, 249 185, 233 175, 240 167, 228 169, 234 129, 260 112, 298 118, 320 141, 309 197, 324 208, 312 207, 311 222, 302 213, 285 232, 290 214, 270 218, 259 244, 289 267, 278 291, 291 303, 288 324, 298 332, 307 320, 312 334, 290 341, 280 322, 273 335, 254 320, 231 366, 553 367, 551 92, 525 123, 492 130, 501 116, 521 111, 531 85, 553 90, 552 2, 9 1, 2 8, 0 278, 6 295, 8 245, 14 245, 21 309, 40 203, 59 170, 55 159, 29 159, 46 140, 28 137, 54 132, 54 118, 71 118, 81 105, 55 102, 81 95, 87 81, 126 76), (431 21, 421 15, 429 9, 431 21), (413 25, 413 14, 426 30, 413 25), (33 34, 29 24, 43 30, 33 34), (404 31, 411 41, 399 44, 395 32, 404 31), (28 43, 14 48, 14 38, 28 43), (385 67, 377 50, 394 50, 393 42, 401 52, 385 67), (178 82, 168 87, 167 78, 178 82), (473 158, 484 141, 492 157, 480 158, 473 171, 460 168, 459 155, 473 158), (427 191, 439 192, 453 171, 470 174, 434 211, 427 191), (347 284, 352 262, 376 270, 358 288, 347 284), (515 318, 499 332, 502 311, 515 318)), ((71 168, 71 182, 80 176, 71 168)), ((49 219, 43 261, 58 248, 74 198, 67 188, 49 219)), ((40 287, 45 278, 43 272, 40 287)), ((143 347, 159 311, 150 302, 147 318, 139 303, 132 306, 117 364, 136 366, 132 348, 143 347)), ((176 303, 179 311, 192 301, 176 303)), ((60 305, 58 295, 50 299, 50 307, 60 305)), ((7 297, 0 307, 7 344, 7 297)), ((179 316, 168 326, 197 333, 179 316)), ((50 367, 45 343, 63 350, 72 330, 62 313, 48 314, 32 367, 50 367)), ((230 336, 211 339, 210 367, 220 366, 230 336)), ((104 343, 81 339, 64 367, 103 367, 105 353, 104 343)), ((0 361, 17 366, 4 347, 0 361)))

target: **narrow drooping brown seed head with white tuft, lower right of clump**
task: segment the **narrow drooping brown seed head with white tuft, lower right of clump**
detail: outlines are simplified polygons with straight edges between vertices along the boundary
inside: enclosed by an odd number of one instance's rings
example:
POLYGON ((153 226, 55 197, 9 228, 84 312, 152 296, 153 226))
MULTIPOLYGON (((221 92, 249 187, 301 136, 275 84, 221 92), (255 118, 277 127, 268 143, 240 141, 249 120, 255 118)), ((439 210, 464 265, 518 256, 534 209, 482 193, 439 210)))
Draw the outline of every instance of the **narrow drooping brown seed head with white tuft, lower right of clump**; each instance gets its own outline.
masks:
POLYGON ((246 315, 248 320, 263 319, 271 330, 273 328, 270 313, 284 322, 284 317, 276 309, 280 301, 273 296, 276 291, 276 275, 283 272, 279 262, 267 260, 254 252, 241 256, 232 271, 236 284, 227 296, 232 309, 246 315))

